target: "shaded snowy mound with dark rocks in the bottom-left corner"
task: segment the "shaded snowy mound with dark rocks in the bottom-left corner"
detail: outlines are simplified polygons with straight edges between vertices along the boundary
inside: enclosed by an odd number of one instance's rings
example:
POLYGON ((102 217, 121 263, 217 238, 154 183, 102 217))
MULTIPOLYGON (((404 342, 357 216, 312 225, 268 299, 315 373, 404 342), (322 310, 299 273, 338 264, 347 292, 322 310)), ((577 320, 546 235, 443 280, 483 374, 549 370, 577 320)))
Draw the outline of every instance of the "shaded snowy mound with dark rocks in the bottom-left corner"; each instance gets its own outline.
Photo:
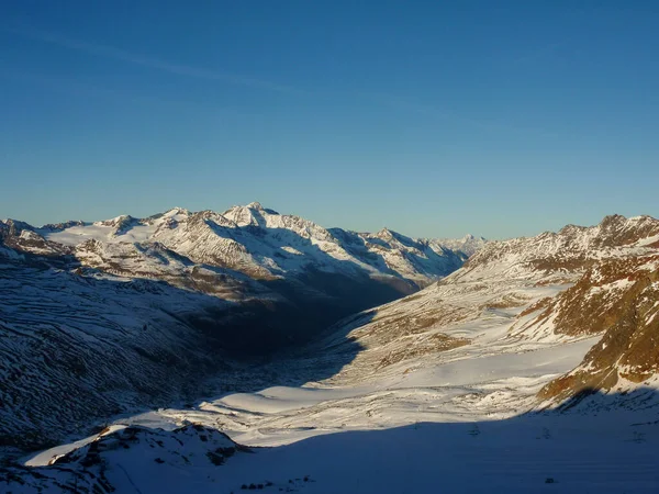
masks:
POLYGON ((150 478, 160 491, 176 492, 181 489, 177 473, 186 472, 188 478, 203 473, 194 484, 211 489, 223 470, 220 467, 234 456, 250 452, 219 430, 199 425, 170 431, 111 426, 49 459, 47 468, 3 472, 7 480, 0 480, 0 485, 5 483, 15 494, 142 492, 137 484, 144 489, 144 479, 150 478))

